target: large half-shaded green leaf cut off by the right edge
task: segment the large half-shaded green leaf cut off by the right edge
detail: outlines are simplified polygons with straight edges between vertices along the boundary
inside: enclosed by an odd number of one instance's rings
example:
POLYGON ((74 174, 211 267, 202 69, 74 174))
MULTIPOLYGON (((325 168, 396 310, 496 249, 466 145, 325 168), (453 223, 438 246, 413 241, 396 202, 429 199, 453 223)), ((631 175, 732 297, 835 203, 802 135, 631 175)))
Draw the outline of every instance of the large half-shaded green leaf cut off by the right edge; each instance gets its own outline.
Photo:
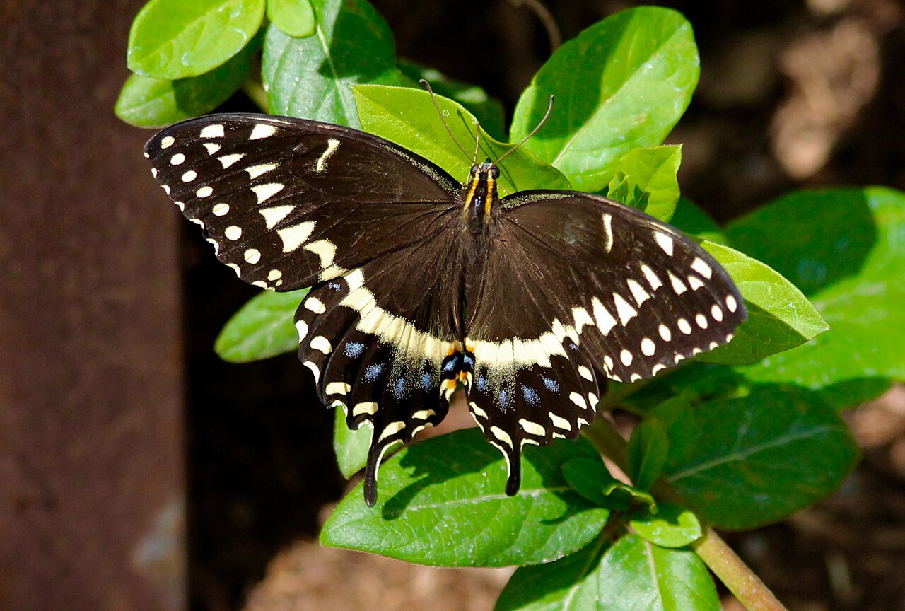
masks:
POLYGON ((827 189, 785 196, 729 224, 738 248, 795 282, 831 330, 738 372, 834 391, 853 405, 905 379, 905 194, 827 189), (848 396, 852 394, 852 396, 848 396))

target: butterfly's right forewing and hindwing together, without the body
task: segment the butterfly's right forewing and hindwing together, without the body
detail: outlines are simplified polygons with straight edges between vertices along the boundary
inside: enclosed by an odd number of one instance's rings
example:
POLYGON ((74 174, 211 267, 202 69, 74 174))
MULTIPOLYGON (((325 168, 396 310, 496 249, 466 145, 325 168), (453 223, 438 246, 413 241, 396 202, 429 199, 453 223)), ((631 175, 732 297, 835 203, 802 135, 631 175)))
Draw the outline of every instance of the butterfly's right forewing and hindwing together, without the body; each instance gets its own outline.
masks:
POLYGON ((472 415, 519 488, 524 444, 591 422, 605 379, 635 381, 732 339, 747 314, 729 274, 667 224, 604 197, 503 199, 466 279, 472 415))

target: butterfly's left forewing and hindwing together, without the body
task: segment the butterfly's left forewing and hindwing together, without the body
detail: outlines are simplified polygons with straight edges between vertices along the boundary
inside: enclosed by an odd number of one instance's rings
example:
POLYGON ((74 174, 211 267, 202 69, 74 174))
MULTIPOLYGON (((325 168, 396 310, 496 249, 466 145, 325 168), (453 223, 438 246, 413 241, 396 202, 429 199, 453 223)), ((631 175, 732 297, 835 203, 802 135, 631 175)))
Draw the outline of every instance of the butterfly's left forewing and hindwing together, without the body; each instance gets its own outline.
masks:
POLYGON ((366 500, 386 449, 439 423, 461 362, 456 198, 439 167, 355 129, 212 115, 148 141, 152 174, 246 282, 313 286, 295 324, 320 398, 374 428, 366 500), (417 262, 413 264, 413 262, 417 262))

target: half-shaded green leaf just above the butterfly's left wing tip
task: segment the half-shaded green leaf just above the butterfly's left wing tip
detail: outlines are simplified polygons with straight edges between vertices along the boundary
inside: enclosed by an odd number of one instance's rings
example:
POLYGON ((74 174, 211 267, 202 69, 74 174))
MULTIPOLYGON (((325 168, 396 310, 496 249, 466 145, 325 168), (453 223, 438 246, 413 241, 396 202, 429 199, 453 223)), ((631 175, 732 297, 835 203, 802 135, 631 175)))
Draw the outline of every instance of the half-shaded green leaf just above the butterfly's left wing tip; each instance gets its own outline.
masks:
POLYGON ((242 86, 261 41, 256 36, 228 62, 200 76, 166 81, 132 74, 119 92, 117 117, 139 128, 160 128, 214 110, 242 86))

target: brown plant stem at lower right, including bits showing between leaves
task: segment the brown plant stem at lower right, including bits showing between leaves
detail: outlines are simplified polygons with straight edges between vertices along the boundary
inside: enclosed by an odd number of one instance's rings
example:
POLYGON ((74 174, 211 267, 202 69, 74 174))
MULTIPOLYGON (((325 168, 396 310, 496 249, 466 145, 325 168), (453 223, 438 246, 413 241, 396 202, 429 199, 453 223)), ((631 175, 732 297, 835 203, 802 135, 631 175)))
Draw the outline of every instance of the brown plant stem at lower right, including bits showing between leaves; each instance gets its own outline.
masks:
MULTIPOLYGON (((628 443, 616 432, 613 425, 604 417, 597 419, 582 429, 597 452, 612 460, 616 466, 628 472, 628 443)), ((651 492, 654 496, 681 504, 681 497, 666 480, 658 480, 651 492)), ((691 544, 698 557, 713 571, 729 591, 738 598, 738 602, 748 611, 787 611, 773 592, 748 568, 741 558, 732 551, 715 530, 707 528, 700 539, 691 544)))

